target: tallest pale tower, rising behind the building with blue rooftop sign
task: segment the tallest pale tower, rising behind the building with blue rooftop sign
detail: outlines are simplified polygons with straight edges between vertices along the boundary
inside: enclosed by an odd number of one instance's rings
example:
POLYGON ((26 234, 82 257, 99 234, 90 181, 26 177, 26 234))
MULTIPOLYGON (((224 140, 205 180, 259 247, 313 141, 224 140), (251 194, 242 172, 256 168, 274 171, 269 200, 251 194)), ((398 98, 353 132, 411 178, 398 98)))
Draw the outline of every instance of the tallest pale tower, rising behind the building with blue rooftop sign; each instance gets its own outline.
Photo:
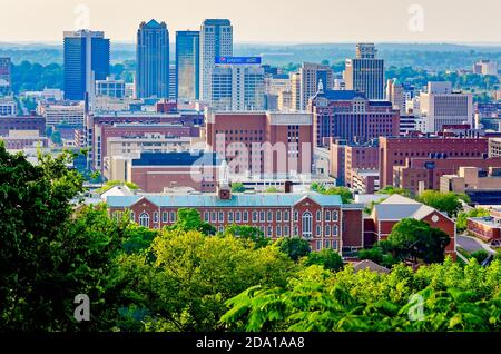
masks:
POLYGON ((227 19, 207 19, 200 27, 200 100, 210 101, 216 57, 233 56, 233 26, 227 19))

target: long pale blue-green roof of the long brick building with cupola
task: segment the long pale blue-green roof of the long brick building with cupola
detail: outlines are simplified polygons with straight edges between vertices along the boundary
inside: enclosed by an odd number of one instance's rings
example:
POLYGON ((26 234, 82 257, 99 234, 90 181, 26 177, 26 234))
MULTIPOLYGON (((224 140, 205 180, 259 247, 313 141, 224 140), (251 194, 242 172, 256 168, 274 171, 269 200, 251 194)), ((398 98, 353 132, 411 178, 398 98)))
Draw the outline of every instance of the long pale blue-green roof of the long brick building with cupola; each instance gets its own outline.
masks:
POLYGON ((234 194, 229 200, 220 199, 216 194, 109 196, 107 204, 109 207, 127 208, 145 198, 160 207, 291 207, 302 201, 305 197, 324 207, 342 205, 340 196, 324 196, 316 193, 234 194))

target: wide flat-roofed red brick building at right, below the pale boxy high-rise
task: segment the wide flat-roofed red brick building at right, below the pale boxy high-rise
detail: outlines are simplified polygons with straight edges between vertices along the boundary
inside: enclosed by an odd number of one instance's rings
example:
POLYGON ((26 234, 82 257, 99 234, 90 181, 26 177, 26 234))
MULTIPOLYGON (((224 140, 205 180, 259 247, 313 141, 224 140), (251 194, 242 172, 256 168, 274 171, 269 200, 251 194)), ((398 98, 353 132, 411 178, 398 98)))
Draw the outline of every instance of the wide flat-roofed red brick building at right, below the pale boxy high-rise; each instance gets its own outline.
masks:
MULTIPOLYGON (((381 137, 379 141, 381 188, 394 185, 394 167, 407 166, 407 160, 412 166, 413 159, 422 159, 423 164, 426 164, 426 159, 432 159, 435 164, 439 159, 443 159, 445 163, 439 163, 441 166, 452 166, 453 159, 483 159, 488 154, 488 139, 482 137, 381 137)), ((433 164, 429 165, 430 168, 432 166, 433 164)))

